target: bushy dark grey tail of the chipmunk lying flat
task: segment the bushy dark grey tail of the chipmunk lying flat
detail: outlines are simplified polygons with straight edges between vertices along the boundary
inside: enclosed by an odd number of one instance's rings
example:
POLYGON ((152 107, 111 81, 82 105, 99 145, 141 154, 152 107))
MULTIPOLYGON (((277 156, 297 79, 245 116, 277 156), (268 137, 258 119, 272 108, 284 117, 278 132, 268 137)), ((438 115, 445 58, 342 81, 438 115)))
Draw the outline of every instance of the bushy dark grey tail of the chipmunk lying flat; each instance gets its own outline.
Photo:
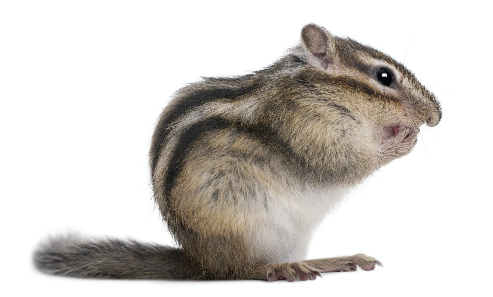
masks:
POLYGON ((137 241, 52 238, 34 254, 45 273, 83 278, 196 279, 181 250, 137 241))

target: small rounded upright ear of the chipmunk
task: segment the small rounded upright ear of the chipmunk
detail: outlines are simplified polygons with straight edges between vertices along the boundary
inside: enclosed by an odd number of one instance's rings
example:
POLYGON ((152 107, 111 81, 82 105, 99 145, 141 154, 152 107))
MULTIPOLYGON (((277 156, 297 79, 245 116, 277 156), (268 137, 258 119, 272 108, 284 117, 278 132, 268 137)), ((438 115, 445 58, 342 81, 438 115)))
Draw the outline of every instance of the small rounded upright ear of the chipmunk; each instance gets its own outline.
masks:
POLYGON ((307 53, 307 62, 323 69, 338 62, 335 42, 334 37, 323 27, 308 24, 301 29, 301 46, 307 53))

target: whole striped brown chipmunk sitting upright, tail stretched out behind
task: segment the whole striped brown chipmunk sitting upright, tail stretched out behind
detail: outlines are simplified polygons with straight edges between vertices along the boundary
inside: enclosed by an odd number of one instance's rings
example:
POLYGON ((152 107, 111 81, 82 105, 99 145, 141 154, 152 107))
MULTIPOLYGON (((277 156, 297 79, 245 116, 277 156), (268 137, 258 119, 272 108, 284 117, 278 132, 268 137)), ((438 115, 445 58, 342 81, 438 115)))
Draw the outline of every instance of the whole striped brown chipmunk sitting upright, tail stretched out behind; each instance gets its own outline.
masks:
POLYGON ((191 83, 162 112, 151 179, 178 247, 68 236, 40 246, 35 265, 88 278, 268 281, 374 269, 363 254, 305 260, 310 237, 441 114, 403 65, 308 24, 271 66, 191 83))

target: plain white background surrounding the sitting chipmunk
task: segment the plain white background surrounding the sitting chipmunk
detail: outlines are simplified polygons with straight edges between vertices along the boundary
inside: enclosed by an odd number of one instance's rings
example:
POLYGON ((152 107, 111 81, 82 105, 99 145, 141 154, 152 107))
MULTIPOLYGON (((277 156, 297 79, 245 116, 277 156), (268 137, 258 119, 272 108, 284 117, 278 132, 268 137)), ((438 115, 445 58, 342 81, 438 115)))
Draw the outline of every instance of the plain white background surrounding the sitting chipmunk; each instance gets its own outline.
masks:
POLYGON ((486 1, 173 2, 1 2, 4 296, 491 294, 486 1), (199 75, 267 66, 310 22, 405 57, 440 96, 442 122, 354 189, 308 253, 366 253, 384 267, 296 283, 81 280, 34 269, 36 243, 68 230, 172 244, 147 166, 160 111, 199 75))

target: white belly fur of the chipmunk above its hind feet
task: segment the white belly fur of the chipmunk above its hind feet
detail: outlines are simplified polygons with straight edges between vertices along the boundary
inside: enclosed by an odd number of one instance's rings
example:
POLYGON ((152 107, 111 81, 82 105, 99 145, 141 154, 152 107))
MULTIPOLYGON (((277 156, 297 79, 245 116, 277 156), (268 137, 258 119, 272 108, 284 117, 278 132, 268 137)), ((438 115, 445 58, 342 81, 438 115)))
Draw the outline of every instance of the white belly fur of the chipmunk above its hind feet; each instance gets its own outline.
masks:
POLYGON ((260 262, 305 260, 313 232, 344 198, 349 187, 303 188, 271 196, 269 210, 260 216, 251 234, 254 254, 260 262))

